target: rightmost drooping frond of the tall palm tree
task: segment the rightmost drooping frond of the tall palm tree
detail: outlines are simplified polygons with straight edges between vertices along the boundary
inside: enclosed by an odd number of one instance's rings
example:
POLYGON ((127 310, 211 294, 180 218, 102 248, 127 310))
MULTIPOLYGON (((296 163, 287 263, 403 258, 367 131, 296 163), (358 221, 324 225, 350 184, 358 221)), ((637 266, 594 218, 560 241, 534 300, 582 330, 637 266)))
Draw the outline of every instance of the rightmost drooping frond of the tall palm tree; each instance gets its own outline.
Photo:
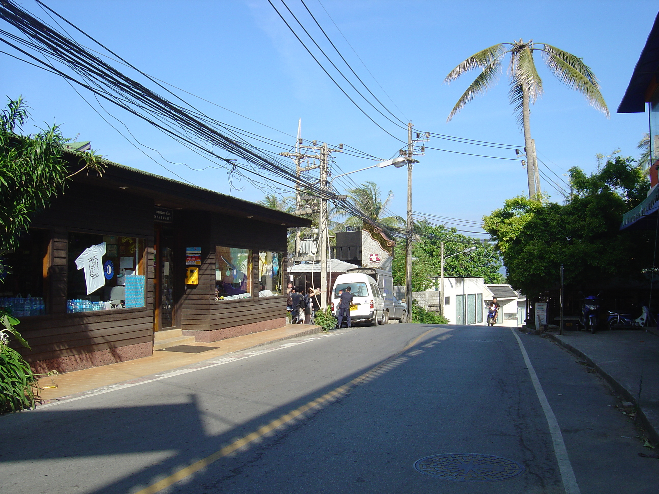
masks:
POLYGON ((552 45, 544 44, 542 54, 547 67, 565 86, 579 91, 590 106, 604 113, 607 118, 610 117, 604 96, 600 93, 600 85, 590 67, 579 57, 552 45))

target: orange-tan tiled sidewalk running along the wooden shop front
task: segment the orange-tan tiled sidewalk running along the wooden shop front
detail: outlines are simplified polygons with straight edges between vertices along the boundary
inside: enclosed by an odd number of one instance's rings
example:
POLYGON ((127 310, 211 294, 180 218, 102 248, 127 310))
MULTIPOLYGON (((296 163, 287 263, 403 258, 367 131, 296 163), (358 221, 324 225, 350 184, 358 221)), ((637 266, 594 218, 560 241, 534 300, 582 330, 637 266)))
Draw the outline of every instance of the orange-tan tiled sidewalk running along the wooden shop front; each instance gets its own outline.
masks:
MULTIPOLYGON (((214 343, 192 343, 194 346, 206 346, 213 348, 201 353, 183 353, 157 350, 150 357, 129 360, 128 362, 119 362, 108 366, 94 367, 74 372, 68 372, 58 375, 54 378, 57 384, 56 388, 44 388, 40 392, 42 400, 53 400, 55 398, 67 397, 75 393, 90 391, 103 386, 129 381, 138 377, 152 375, 158 372, 173 370, 188 364, 196 364, 210 358, 215 358, 227 353, 238 352, 260 346, 266 343, 273 343, 320 333, 320 326, 314 325, 287 325, 270 331, 260 331, 251 335, 244 335, 235 338, 229 338, 214 343)), ((50 377, 40 379, 40 387, 51 386, 50 377)))

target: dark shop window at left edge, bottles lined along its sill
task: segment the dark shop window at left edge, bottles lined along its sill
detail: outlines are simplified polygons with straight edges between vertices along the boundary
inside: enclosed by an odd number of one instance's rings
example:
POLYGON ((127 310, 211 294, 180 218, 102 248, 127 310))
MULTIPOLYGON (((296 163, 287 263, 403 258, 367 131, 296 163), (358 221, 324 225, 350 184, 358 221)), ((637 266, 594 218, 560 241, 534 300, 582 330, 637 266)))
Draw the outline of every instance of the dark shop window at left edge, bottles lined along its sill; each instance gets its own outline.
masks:
POLYGON ((50 232, 30 229, 18 248, 0 258, 0 307, 15 317, 46 314, 50 232))

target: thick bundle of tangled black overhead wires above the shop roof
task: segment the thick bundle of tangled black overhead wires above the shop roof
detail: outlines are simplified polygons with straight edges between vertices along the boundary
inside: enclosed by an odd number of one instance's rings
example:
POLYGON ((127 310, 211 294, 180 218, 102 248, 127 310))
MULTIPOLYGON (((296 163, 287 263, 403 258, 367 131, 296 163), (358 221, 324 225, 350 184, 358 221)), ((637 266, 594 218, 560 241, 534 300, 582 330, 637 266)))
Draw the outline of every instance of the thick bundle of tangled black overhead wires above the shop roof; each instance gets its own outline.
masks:
MULTIPOLYGON (((366 223, 373 223, 372 219, 363 215, 353 204, 322 187, 316 180, 299 177, 291 163, 276 153, 258 148, 250 142, 265 142, 261 136, 209 117, 183 97, 167 89, 156 78, 148 76, 69 20, 39 0, 36 1, 115 59, 119 59, 122 65, 136 71, 137 78, 143 78, 143 83, 127 76, 100 56, 94 55, 92 50, 74 40, 58 22, 55 22, 57 27, 47 24, 12 0, 0 0, 0 19, 5 20, 18 32, 0 29, 0 41, 13 49, 13 53, 3 50, 0 50, 0 53, 61 76, 70 84, 80 86, 95 97, 105 99, 152 124, 186 148, 227 169, 230 180, 237 177, 245 179, 260 190, 268 190, 268 184, 295 190, 295 184, 299 182, 299 186, 308 191, 308 194, 340 204, 341 208, 349 211, 351 215, 360 217, 366 223), (157 90, 162 90, 166 96, 161 96, 156 92, 156 88, 148 87, 151 84, 157 86, 157 90), (227 151, 229 155, 220 155, 219 151, 215 151, 218 148, 227 151)), ((104 111, 107 112, 105 109, 104 111)), ((233 188, 233 183, 231 186, 233 188)))

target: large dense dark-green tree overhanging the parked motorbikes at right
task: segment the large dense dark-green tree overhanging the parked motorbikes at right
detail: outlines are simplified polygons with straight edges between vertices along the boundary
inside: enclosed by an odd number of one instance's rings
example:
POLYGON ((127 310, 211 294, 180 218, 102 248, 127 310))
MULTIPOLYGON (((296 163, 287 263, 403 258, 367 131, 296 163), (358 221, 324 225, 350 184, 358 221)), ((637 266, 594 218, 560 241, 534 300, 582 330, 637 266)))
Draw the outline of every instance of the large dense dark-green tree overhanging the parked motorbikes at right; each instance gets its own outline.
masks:
POLYGON ((484 217, 513 288, 536 296, 558 287, 561 263, 565 284, 584 292, 638 278, 651 265, 654 232, 619 231, 623 213, 645 199, 648 180, 631 157, 611 156, 598 168, 569 170, 565 204, 519 196, 484 217))

